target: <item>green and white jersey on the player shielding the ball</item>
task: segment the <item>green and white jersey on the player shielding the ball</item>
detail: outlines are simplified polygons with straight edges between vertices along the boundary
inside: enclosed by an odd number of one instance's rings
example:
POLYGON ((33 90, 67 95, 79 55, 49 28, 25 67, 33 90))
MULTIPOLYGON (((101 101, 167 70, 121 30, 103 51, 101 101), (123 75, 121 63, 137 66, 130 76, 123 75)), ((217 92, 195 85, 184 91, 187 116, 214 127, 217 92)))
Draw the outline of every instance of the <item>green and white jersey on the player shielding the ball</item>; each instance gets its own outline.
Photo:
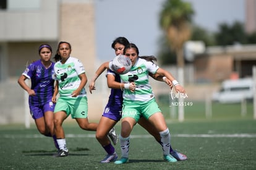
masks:
POLYGON ((147 102, 155 97, 148 81, 148 72, 155 74, 158 68, 153 62, 139 58, 127 74, 120 75, 123 83, 135 82, 136 85, 134 93, 127 89, 124 90, 124 104, 130 103, 131 101, 134 104, 147 102))

